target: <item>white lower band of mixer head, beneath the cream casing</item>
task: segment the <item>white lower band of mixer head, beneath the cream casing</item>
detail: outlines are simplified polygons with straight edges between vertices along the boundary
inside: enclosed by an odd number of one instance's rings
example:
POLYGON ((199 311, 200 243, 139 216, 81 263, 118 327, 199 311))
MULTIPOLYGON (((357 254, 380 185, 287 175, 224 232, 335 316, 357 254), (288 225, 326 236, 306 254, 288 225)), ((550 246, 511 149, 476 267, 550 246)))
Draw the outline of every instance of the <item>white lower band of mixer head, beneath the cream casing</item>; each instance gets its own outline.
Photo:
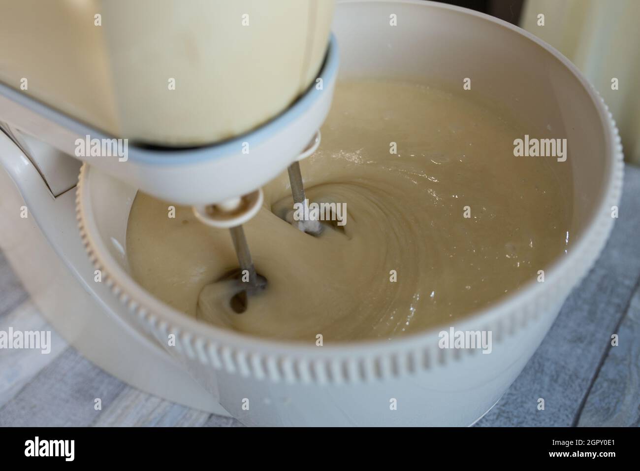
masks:
POLYGON ((304 151, 329 111, 337 64, 337 46, 332 39, 318 80, 291 107, 246 135, 205 147, 149 148, 127 142, 126 147, 120 145, 127 150, 125 156, 113 151, 106 156, 92 153, 92 148, 113 142, 114 136, 3 84, 0 122, 8 123, 14 135, 35 136, 164 201, 221 202, 260 188, 304 151), (83 150, 79 152, 79 148, 83 150))

